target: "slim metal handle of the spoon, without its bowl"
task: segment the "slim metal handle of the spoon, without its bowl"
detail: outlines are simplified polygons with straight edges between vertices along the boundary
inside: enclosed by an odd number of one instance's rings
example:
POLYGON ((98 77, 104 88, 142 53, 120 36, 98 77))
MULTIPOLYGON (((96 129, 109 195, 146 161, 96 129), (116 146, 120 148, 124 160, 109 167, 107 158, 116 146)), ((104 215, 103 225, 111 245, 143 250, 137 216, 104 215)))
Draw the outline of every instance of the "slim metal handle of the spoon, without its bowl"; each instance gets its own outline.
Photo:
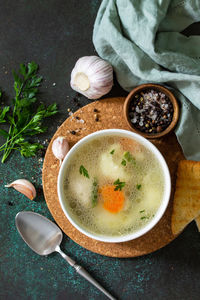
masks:
POLYGON ((110 293, 108 293, 92 276, 81 266, 77 265, 76 262, 71 259, 68 255, 66 255, 59 246, 55 249, 60 255, 70 264, 70 266, 74 267, 76 272, 83 276, 86 280, 88 280, 91 284, 93 284, 96 288, 98 288, 102 293, 104 293, 109 299, 116 300, 110 293))

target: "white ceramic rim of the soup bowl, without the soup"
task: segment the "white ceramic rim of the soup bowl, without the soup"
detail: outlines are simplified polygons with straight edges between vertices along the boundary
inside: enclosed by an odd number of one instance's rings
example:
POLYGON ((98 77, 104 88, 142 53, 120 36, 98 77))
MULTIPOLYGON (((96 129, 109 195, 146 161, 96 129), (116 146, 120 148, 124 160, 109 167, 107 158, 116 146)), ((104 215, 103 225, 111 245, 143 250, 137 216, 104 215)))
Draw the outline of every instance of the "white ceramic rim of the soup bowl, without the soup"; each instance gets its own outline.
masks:
POLYGON ((92 134, 89 134, 88 136, 82 138, 78 143, 76 143, 70 149, 70 151, 67 153, 67 155, 62 163, 62 166, 60 168, 60 171, 59 171, 57 189, 58 189, 58 197, 59 197, 59 201, 60 201, 62 210, 63 210, 65 216, 68 218, 68 220, 71 222, 71 224, 74 227, 76 227, 83 234, 85 234, 88 237, 91 237, 95 240, 102 241, 102 242, 119 243, 119 242, 130 241, 130 240, 136 239, 136 238, 144 235, 159 222, 159 220, 162 218, 162 216, 167 208, 167 205, 168 205, 168 202, 170 199, 171 179, 170 179, 170 173, 169 173, 168 166, 165 162, 165 159, 163 158, 162 154, 158 151, 158 149, 151 142, 149 142, 147 139, 145 139, 141 135, 131 132, 131 131, 121 130, 121 129, 106 129, 106 130, 100 130, 100 131, 96 131, 92 134), (73 218, 73 215, 70 214, 70 211, 67 208, 65 197, 64 197, 64 189, 63 189, 65 169, 70 161, 72 154, 74 154, 74 152, 77 150, 78 147, 87 143, 88 141, 91 141, 94 138, 98 138, 98 137, 106 136, 106 135, 118 135, 118 136, 122 136, 122 137, 127 137, 130 139, 134 139, 134 140, 138 141, 139 143, 143 144, 144 146, 146 146, 150 151, 152 151, 154 153, 154 155, 159 160, 161 168, 163 170, 164 181, 165 181, 165 190, 164 190, 163 198, 161 201, 161 205, 160 205, 159 209, 157 210, 153 219, 145 227, 143 227, 142 229, 140 229, 136 232, 122 235, 122 236, 116 236, 116 237, 91 233, 91 232, 87 231, 86 229, 82 228, 79 224, 77 224, 76 220, 73 218))

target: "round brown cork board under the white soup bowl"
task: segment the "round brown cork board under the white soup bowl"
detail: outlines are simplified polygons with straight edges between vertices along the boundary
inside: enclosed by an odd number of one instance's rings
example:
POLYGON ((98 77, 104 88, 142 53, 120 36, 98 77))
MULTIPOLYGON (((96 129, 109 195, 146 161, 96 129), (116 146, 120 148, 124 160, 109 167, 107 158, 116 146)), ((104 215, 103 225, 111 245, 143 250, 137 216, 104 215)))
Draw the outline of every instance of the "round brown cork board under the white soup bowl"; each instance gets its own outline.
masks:
POLYGON ((172 194, 168 208, 160 222, 147 234, 135 240, 124 243, 104 243, 91 239, 74 228, 64 215, 57 196, 57 176, 59 161, 52 153, 52 142, 58 136, 65 136, 70 148, 82 137, 108 128, 129 130, 123 118, 123 103, 125 98, 109 98, 93 102, 79 109, 70 116, 56 131, 47 149, 43 165, 43 189, 47 206, 60 228, 76 243, 93 252, 112 257, 136 257, 151 253, 170 243, 175 236, 171 232, 172 202, 178 162, 184 159, 180 145, 174 133, 161 139, 151 140, 165 157, 172 179, 172 194), (99 121, 95 121, 94 108, 98 110, 99 121), (77 121, 75 117, 84 120, 77 121), (70 133, 77 130, 76 135, 70 133))

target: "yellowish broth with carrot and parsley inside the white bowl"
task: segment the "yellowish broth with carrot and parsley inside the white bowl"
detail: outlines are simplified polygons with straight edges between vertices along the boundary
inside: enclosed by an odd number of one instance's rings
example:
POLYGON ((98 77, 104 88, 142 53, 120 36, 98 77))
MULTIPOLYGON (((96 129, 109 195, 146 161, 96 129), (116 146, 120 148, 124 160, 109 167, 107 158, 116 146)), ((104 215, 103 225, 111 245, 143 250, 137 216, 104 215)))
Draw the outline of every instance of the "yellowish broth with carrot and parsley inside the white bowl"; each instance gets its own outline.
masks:
POLYGON ((164 193, 159 161, 144 145, 104 136, 79 147, 65 170, 66 206, 93 234, 138 231, 156 214, 164 193))

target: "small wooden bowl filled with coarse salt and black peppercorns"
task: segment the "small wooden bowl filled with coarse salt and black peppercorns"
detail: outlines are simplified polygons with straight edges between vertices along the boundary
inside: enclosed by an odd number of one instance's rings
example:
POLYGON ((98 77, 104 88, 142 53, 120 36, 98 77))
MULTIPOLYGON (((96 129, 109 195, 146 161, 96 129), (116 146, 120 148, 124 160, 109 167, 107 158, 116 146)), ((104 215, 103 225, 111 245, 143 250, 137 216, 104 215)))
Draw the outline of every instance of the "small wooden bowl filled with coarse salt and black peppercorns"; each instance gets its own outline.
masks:
POLYGON ((157 138, 174 128, 179 108, 176 98, 167 88, 144 84, 130 92, 124 103, 124 114, 133 131, 147 138, 157 138))

